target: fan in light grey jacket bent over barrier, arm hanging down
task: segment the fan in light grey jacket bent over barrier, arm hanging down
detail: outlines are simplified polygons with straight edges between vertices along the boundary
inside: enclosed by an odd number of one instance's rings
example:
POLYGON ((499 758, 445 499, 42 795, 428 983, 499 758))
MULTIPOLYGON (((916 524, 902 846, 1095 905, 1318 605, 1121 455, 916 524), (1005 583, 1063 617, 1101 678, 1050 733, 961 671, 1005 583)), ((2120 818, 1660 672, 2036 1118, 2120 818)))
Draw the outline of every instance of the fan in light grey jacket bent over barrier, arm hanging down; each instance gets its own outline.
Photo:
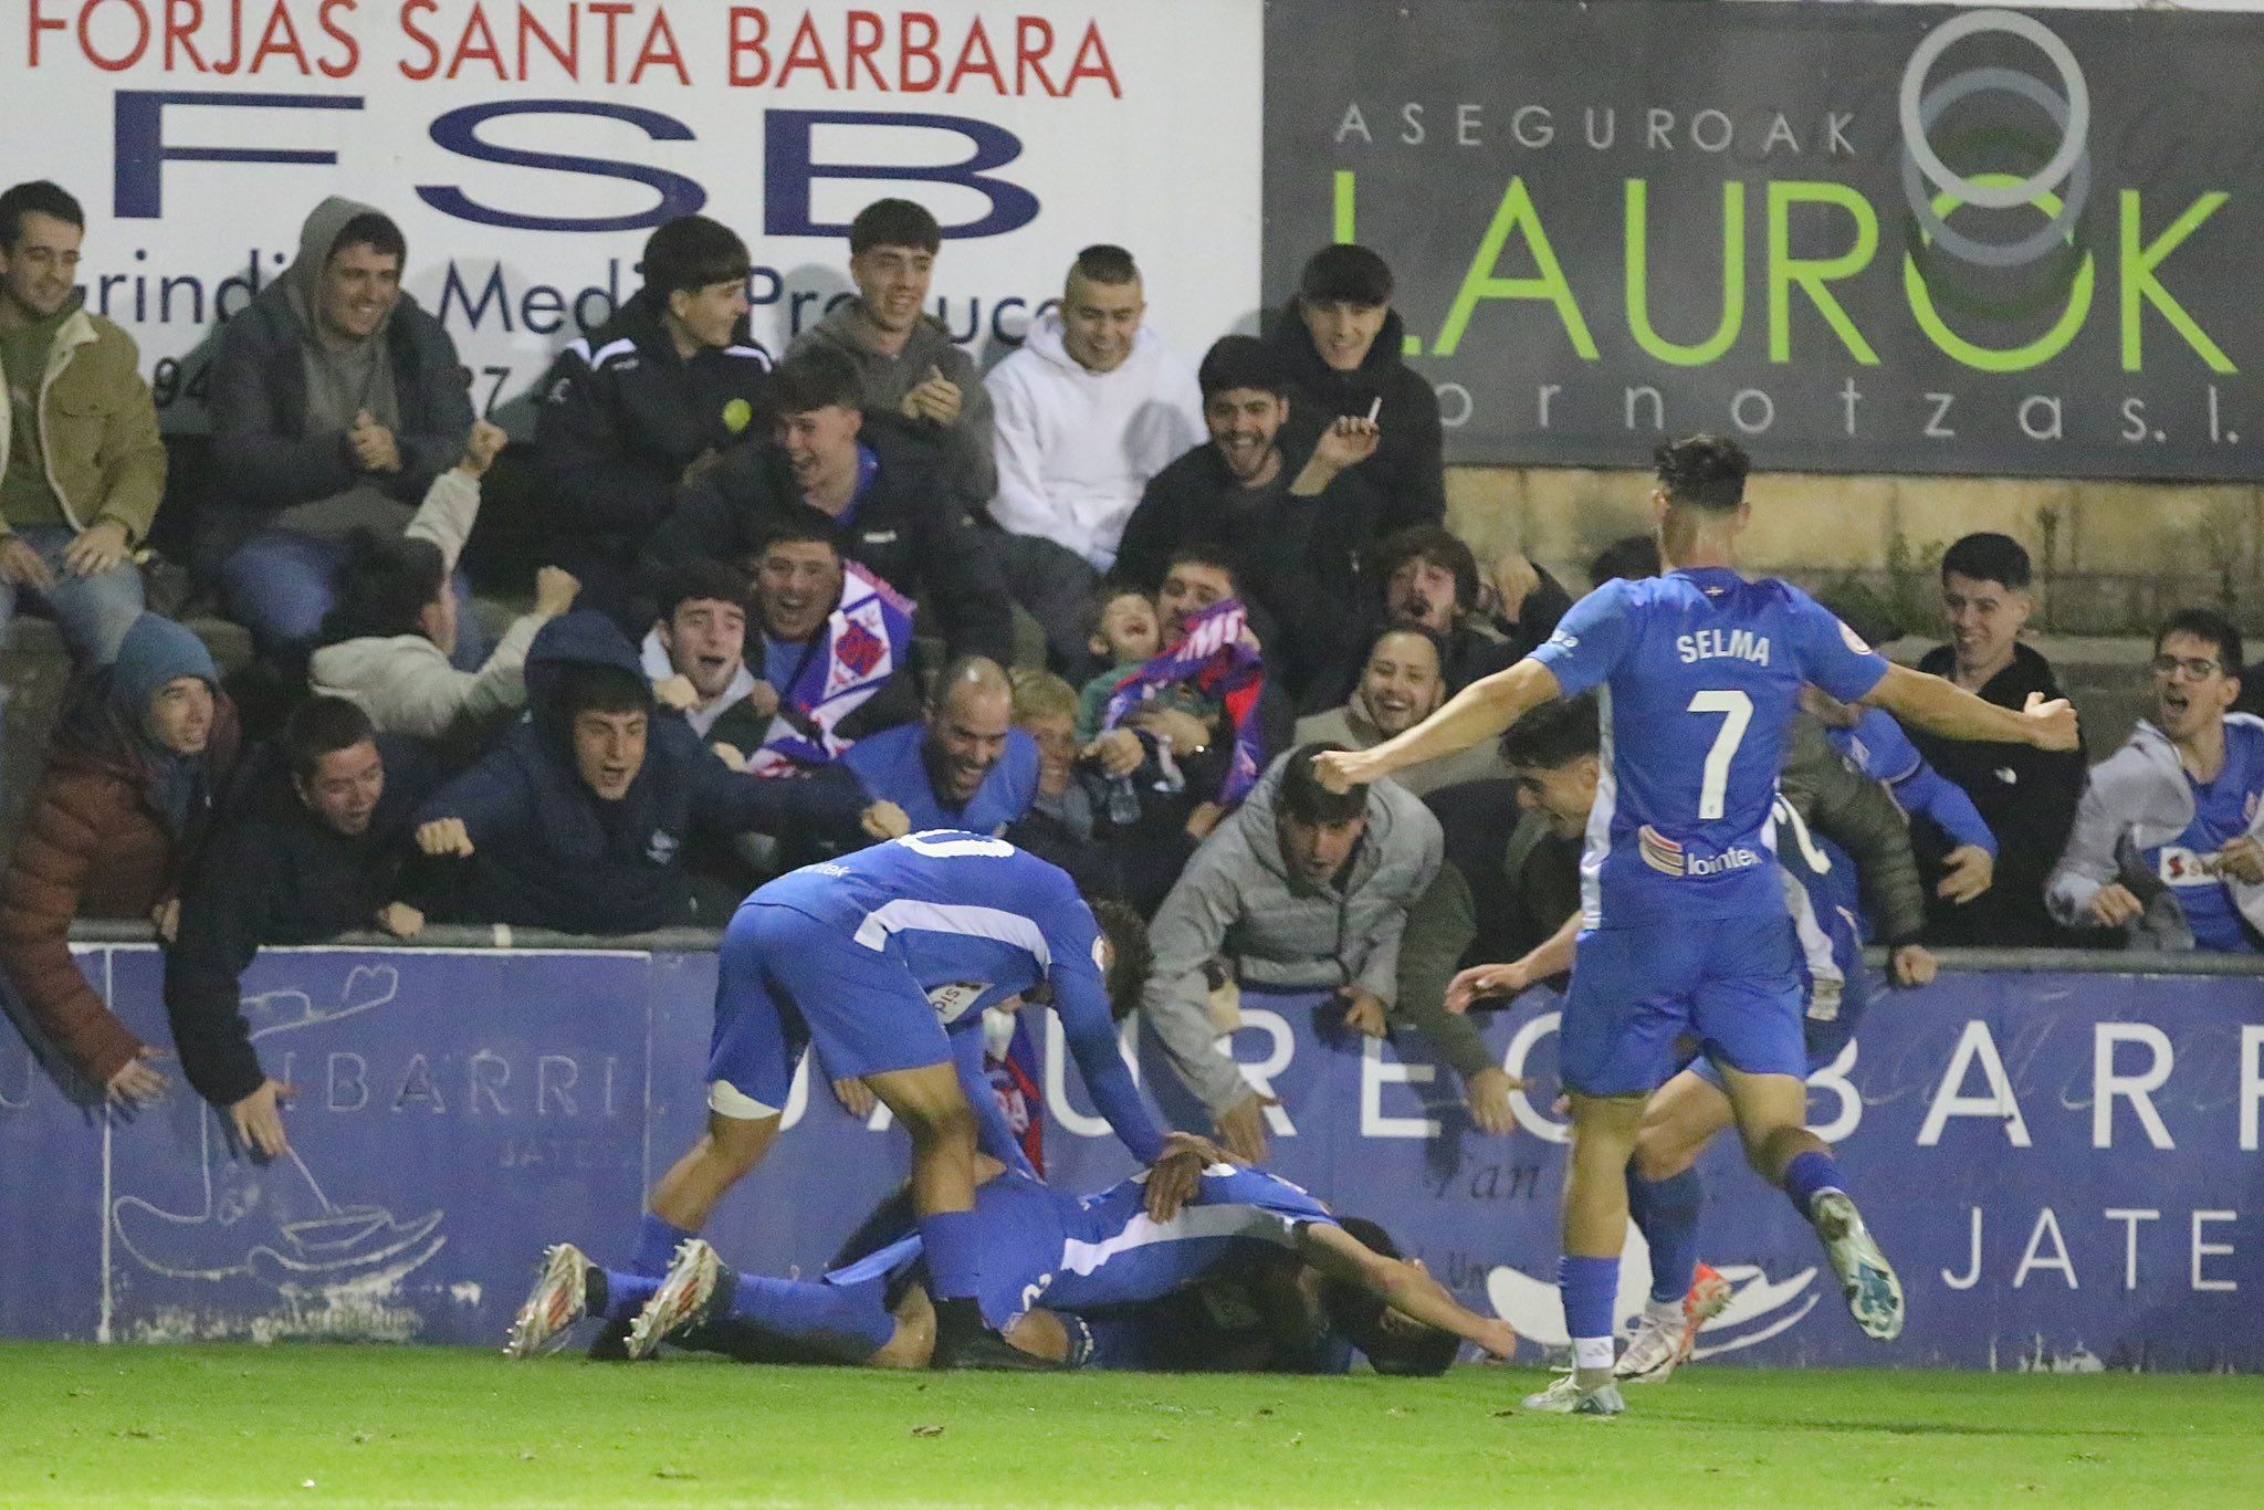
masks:
POLYGON ((1338 992, 1349 1012, 1390 1010, 1399 935, 1444 851, 1438 820, 1390 781, 1327 792, 1302 745, 1204 840, 1148 930, 1141 1014, 1241 1159, 1266 1157, 1263 1100, 1220 1044, 1204 967, 1275 992, 1338 992))

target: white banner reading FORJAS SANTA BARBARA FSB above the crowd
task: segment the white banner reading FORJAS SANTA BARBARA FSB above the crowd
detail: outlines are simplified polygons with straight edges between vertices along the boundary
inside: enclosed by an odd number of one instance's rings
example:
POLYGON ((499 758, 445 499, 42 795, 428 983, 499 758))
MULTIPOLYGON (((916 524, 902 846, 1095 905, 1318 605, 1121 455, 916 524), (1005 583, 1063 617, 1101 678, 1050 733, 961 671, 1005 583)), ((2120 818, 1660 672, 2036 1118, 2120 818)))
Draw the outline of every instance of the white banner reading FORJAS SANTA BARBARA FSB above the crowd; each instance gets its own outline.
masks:
POLYGON ((168 428, 326 195, 401 224, 408 290, 505 421, 691 211, 747 238, 772 351, 849 290, 847 224, 883 195, 944 224, 933 310, 983 362, 1091 242, 1132 249, 1189 360, 1259 308, 1259 0, 5 9, 7 177, 84 201, 88 306, 140 342, 168 428))

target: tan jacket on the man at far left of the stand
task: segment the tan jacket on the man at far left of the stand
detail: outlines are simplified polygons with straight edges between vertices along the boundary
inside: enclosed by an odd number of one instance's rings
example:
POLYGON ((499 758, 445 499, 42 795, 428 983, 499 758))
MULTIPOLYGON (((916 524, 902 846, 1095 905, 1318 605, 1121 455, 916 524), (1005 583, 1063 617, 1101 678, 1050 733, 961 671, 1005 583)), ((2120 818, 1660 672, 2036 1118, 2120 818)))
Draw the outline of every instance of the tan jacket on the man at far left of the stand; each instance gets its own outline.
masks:
MULTIPOLYGON (((0 471, 11 437, 9 392, 0 383, 0 471)), ((129 543, 149 534, 165 496, 165 441, 131 335, 100 315, 72 310, 54 333, 38 380, 38 437, 48 487, 63 500, 75 530, 115 518, 129 543)), ((7 532, 0 521, 0 534, 7 532)))

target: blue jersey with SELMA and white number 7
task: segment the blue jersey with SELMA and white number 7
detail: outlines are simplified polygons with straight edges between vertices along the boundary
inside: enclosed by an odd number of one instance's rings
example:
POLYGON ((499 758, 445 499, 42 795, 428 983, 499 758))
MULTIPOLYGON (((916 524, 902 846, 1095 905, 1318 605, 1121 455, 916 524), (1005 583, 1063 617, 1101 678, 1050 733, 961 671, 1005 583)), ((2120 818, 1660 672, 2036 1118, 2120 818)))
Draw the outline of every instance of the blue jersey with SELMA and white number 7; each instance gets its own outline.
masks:
POLYGON ((1583 926, 1784 912, 1770 804, 1800 686, 1856 702, 1886 659, 1798 586, 1727 568, 1607 582, 1533 659, 1567 697, 1598 688, 1583 926))

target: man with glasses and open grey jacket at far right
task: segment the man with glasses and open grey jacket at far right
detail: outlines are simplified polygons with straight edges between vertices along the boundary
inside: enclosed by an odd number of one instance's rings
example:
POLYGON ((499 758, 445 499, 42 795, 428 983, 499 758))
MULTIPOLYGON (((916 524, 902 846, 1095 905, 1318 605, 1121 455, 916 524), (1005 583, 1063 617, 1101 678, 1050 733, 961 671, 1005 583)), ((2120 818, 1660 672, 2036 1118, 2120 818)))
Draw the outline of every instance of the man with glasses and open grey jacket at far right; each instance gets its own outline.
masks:
POLYGON ((2153 643, 2153 722, 2092 770, 2047 901, 2135 949, 2257 953, 2264 928, 2264 720, 2241 695, 2241 632, 2173 614, 2153 643))

